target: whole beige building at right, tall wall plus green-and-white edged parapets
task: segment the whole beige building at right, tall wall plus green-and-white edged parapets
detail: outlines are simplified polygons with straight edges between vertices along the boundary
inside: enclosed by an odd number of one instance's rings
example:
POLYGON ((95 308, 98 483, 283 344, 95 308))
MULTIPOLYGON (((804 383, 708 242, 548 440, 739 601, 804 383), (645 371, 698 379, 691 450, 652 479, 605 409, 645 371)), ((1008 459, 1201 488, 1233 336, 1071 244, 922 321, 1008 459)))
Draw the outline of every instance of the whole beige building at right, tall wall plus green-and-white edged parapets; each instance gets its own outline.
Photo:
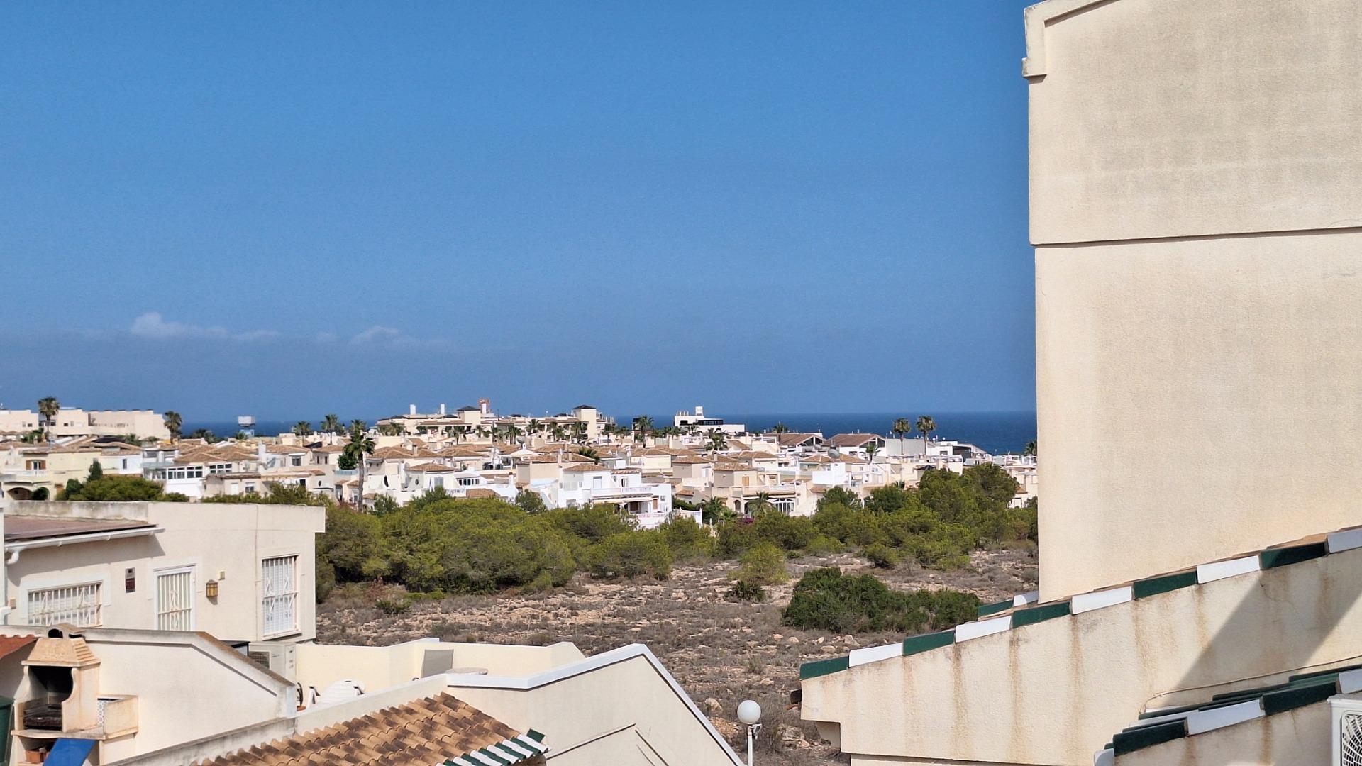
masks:
POLYGON ((1328 763, 1362 747, 1362 4, 1024 33, 1041 590, 805 665, 802 716, 853 766, 1328 763))

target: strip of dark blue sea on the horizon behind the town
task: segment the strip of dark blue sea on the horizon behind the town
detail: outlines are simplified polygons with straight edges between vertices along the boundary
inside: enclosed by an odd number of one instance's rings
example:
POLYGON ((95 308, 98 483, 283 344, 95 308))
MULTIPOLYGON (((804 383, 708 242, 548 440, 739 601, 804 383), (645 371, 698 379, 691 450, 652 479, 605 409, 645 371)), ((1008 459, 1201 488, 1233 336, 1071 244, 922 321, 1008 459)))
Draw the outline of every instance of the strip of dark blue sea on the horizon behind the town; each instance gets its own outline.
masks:
MULTIPOLYGON (((790 431, 821 432, 827 436, 834 433, 881 433, 889 435, 889 428, 896 417, 907 417, 908 423, 917 420, 918 414, 904 413, 765 413, 765 414, 730 414, 720 412, 706 412, 710 417, 722 417, 727 423, 741 423, 749 431, 767 431, 776 423, 786 424, 790 431)), ((1035 439, 1034 412, 957 412, 957 413, 930 413, 936 420, 937 429, 934 438, 968 442, 989 453, 1020 453, 1026 443, 1035 439)), ((301 420, 301 418, 300 418, 301 420)), ((375 418, 366 418, 373 423, 375 418)), ((616 423, 628 424, 633 416, 616 416, 616 423)), ((656 425, 671 424, 671 414, 654 414, 656 425)), ((256 424, 256 433, 260 436, 275 436, 293 428, 296 420, 290 421, 260 421, 256 424)), ((317 421, 312 420, 316 428, 317 421)), ((349 423, 349 420, 346 421, 349 423)), ((232 421, 214 423, 185 423, 184 433, 199 428, 207 428, 218 436, 232 436, 237 432, 237 424, 232 421)))

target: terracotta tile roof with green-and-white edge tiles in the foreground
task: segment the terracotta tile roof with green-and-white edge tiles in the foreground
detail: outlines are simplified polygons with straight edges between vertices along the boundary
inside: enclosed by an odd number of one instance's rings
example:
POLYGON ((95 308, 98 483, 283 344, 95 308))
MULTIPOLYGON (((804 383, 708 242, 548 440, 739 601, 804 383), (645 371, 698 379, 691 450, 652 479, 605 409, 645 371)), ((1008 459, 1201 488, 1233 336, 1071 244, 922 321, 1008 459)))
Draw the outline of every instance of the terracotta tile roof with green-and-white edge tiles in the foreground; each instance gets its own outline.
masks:
POLYGON ((203 766, 410 766, 543 763, 543 735, 511 726, 448 694, 415 699, 324 729, 203 762, 203 766), (490 755, 467 756, 486 751, 490 755))

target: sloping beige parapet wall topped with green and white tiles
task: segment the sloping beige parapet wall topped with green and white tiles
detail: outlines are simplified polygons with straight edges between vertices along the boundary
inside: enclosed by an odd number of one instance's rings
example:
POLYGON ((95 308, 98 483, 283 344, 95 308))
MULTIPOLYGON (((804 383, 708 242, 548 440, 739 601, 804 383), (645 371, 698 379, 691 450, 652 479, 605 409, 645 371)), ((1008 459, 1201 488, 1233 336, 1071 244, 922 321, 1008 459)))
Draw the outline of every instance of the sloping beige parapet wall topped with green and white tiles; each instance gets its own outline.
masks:
POLYGON ((1151 702, 1355 657, 1357 545, 1337 533, 810 664, 802 716, 849 754, 1086 765, 1151 702))

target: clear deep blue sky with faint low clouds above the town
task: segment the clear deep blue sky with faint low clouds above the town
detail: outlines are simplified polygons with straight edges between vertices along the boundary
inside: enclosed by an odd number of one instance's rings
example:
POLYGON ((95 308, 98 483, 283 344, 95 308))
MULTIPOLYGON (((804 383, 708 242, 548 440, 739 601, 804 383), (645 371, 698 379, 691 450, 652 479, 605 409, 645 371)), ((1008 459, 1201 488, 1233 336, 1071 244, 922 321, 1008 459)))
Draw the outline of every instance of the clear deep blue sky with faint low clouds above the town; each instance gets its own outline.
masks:
POLYGON ((0 402, 1031 409, 1024 5, 5 4, 0 402))

